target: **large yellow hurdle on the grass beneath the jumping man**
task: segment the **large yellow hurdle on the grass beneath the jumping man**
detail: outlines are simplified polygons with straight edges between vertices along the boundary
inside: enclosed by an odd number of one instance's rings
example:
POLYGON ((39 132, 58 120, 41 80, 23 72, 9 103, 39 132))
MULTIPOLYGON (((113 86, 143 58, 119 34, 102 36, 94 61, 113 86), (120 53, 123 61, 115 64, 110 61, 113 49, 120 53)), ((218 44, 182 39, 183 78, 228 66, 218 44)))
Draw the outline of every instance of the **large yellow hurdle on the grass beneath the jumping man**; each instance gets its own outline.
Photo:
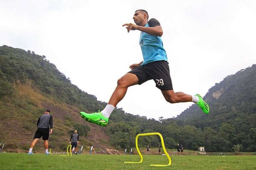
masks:
POLYGON ((143 157, 142 157, 141 152, 140 152, 139 147, 138 147, 138 137, 139 137, 139 136, 149 136, 149 135, 158 135, 158 136, 160 137, 160 139, 161 139, 161 144, 162 144, 162 147, 163 147, 163 151, 164 151, 165 155, 167 156, 167 158, 168 158, 168 160, 169 160, 169 163, 168 163, 167 165, 151 164, 150 166, 170 166, 170 165, 171 165, 172 160, 171 160, 170 156, 168 155, 168 153, 167 153, 167 151, 166 151, 166 149, 165 149, 164 141, 163 141, 163 136, 162 136, 160 133, 158 133, 158 132, 153 132, 153 133, 140 133, 140 134, 138 134, 138 135, 136 136, 136 149, 137 149, 137 152, 138 152, 139 156, 141 157, 141 161, 139 161, 139 162, 124 162, 124 163, 141 163, 141 162, 143 161, 143 157))

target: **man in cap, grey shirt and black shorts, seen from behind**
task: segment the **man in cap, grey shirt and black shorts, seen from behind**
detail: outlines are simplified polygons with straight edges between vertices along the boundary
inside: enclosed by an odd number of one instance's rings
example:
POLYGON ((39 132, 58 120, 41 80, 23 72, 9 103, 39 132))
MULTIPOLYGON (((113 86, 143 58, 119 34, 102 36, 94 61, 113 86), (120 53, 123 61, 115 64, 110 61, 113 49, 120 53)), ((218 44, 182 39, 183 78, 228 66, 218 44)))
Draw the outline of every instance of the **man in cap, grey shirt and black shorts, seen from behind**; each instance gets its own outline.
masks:
POLYGON ((44 114, 38 118, 36 126, 37 130, 35 132, 34 140, 30 145, 28 155, 34 155, 32 153, 32 149, 35 146, 38 139, 40 139, 41 137, 44 140, 45 154, 49 155, 50 153, 48 153, 48 139, 49 134, 52 134, 53 132, 53 116, 50 115, 50 110, 47 109, 44 111, 44 114))

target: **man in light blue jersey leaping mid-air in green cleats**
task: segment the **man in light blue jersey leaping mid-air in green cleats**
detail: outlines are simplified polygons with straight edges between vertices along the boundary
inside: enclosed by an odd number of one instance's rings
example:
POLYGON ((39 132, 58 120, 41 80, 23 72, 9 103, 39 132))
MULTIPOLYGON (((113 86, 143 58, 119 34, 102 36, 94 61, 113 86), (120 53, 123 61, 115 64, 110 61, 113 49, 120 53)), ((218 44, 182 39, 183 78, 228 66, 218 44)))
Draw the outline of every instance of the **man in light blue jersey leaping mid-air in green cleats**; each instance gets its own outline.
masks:
POLYGON ((145 10, 137 10, 133 16, 136 24, 126 23, 128 33, 131 30, 141 31, 140 46, 143 55, 143 61, 130 66, 131 71, 126 73, 117 81, 117 87, 108 101, 107 106, 96 113, 80 112, 85 121, 95 123, 99 126, 107 126, 108 118, 115 106, 121 101, 127 91, 127 88, 133 85, 153 79, 155 86, 161 90, 166 101, 170 103, 194 102, 205 114, 209 113, 208 104, 198 94, 191 96, 183 92, 174 92, 170 77, 170 70, 166 52, 163 48, 161 36, 163 35, 160 23, 152 18, 148 21, 149 14, 145 10))

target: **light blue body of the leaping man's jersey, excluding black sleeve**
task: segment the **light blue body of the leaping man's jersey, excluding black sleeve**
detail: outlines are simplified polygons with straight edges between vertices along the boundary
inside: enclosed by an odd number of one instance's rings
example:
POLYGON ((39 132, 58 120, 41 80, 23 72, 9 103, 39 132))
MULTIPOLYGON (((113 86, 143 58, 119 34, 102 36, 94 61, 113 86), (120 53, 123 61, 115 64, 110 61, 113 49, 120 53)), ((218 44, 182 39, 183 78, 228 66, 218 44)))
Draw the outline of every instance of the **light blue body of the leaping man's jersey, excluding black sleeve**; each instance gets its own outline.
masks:
MULTIPOLYGON (((144 27, 149 27, 149 24, 146 23, 144 27)), ((141 65, 159 60, 168 61, 161 37, 141 32, 140 46, 143 55, 143 63, 141 65)))

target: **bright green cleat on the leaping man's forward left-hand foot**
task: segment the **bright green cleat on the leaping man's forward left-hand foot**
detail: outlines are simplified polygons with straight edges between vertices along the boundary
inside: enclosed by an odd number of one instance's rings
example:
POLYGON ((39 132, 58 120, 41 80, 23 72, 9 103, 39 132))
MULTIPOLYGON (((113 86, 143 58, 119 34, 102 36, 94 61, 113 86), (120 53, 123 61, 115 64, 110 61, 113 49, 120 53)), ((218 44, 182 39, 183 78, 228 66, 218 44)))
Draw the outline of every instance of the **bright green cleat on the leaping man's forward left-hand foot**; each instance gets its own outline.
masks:
POLYGON ((85 113, 80 112, 80 115, 82 118, 84 118, 85 121, 94 123, 98 126, 105 127, 108 123, 108 118, 104 117, 103 114, 99 111, 98 113, 85 113))

